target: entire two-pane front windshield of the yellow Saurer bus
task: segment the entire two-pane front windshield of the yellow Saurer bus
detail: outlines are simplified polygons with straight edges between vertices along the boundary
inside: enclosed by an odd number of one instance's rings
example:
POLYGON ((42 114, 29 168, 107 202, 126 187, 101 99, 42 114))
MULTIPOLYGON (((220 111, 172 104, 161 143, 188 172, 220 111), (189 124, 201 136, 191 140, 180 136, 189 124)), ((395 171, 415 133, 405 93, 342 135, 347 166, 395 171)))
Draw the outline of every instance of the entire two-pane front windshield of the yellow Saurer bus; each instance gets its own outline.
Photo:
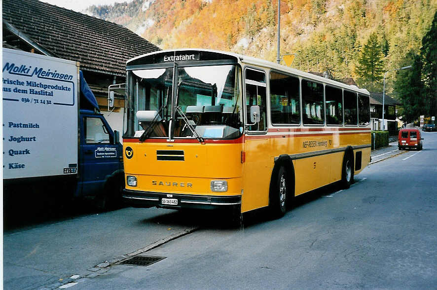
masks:
POLYGON ((172 132, 174 138, 238 138, 241 99, 235 65, 130 71, 124 137, 169 138, 172 132))

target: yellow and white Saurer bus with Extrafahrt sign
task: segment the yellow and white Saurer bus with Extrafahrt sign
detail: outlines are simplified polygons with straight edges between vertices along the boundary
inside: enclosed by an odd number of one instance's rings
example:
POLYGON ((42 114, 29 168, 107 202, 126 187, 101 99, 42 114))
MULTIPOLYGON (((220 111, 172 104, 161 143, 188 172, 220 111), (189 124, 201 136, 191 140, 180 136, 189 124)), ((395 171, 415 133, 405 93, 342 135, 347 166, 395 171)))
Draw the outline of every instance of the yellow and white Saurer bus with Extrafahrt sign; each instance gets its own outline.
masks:
POLYGON ((269 207, 370 160, 369 93, 264 60, 206 49, 127 62, 123 199, 135 207, 269 207))

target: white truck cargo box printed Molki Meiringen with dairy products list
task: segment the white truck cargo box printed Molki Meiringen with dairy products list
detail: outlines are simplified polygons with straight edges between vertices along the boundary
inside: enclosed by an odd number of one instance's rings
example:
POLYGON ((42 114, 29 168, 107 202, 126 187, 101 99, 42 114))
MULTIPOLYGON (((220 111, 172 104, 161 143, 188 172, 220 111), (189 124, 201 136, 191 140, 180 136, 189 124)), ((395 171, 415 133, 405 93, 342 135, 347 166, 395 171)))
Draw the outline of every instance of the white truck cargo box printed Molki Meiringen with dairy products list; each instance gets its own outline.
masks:
POLYGON ((3 48, 3 178, 77 173, 76 62, 3 48))

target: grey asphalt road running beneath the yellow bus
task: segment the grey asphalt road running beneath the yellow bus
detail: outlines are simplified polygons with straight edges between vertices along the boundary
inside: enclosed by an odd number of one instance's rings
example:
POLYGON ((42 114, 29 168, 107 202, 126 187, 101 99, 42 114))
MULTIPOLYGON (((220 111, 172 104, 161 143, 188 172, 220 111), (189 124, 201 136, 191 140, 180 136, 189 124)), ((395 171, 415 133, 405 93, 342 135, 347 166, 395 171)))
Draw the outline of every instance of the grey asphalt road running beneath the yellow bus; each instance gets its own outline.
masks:
POLYGON ((5 232, 4 288, 437 289, 437 132, 423 137, 422 151, 367 166, 350 189, 299 196, 277 220, 251 213, 242 229, 127 208, 5 232), (127 254, 166 258, 114 263, 127 254))

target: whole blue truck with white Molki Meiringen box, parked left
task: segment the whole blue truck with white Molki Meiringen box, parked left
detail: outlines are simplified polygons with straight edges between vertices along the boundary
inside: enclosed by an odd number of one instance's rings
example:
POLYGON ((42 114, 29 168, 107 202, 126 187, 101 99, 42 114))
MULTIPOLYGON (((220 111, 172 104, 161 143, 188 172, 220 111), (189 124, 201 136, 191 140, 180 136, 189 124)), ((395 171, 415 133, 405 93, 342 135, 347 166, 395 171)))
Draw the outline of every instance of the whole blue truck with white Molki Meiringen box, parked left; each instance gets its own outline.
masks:
POLYGON ((2 99, 5 203, 118 197, 122 146, 78 63, 3 48, 2 99))

